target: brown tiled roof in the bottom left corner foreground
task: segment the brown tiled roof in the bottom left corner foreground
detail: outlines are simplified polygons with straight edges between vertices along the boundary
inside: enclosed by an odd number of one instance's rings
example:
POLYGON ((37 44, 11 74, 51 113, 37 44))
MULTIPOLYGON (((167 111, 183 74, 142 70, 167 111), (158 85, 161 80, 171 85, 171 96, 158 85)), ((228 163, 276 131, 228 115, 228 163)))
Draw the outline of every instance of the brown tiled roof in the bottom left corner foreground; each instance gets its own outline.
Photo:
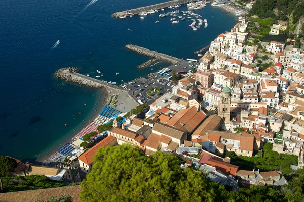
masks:
POLYGON ((0 201, 5 202, 32 202, 49 201, 51 196, 60 197, 63 194, 70 195, 73 202, 80 202, 80 185, 64 186, 59 188, 36 189, 30 191, 17 191, 0 194, 0 201))

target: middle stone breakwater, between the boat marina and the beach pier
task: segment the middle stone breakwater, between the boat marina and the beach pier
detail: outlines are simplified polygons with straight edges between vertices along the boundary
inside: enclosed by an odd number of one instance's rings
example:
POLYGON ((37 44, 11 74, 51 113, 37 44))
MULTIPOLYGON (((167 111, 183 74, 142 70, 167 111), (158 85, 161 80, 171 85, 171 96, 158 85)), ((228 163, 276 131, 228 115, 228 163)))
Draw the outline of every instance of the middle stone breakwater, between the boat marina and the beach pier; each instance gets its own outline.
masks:
POLYGON ((167 61, 169 63, 173 63, 173 64, 179 63, 181 61, 181 59, 178 59, 178 58, 175 58, 172 56, 168 56, 166 54, 158 53, 156 51, 151 51, 147 48, 140 47, 137 45, 128 44, 128 45, 126 45, 126 48, 131 51, 135 51, 141 55, 152 57, 155 59, 162 59, 162 60, 165 60, 165 61, 167 61))

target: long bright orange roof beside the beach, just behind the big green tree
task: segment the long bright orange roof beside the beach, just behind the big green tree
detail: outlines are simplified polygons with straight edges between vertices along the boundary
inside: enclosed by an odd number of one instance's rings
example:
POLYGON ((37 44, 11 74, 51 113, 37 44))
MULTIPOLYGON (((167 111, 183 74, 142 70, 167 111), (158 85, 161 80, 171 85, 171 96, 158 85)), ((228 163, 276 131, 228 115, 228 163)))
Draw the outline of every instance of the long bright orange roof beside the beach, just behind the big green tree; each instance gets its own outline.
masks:
POLYGON ((87 150, 84 154, 78 157, 78 159, 82 162, 84 162, 87 165, 90 165, 93 162, 93 156, 96 154, 97 150, 99 148, 103 148, 107 146, 112 141, 116 141, 116 138, 113 136, 107 136, 100 142, 98 142, 95 146, 87 150))

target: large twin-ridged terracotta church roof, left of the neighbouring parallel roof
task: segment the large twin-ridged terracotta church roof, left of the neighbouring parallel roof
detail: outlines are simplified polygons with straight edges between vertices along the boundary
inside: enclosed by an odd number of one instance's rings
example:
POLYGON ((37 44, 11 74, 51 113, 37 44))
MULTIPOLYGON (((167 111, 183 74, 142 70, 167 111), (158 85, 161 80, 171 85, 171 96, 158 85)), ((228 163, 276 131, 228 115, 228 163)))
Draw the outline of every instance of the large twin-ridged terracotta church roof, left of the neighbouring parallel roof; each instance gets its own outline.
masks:
POLYGON ((173 126, 180 130, 192 132, 205 118, 206 113, 199 110, 196 106, 178 111, 169 121, 167 125, 173 126))

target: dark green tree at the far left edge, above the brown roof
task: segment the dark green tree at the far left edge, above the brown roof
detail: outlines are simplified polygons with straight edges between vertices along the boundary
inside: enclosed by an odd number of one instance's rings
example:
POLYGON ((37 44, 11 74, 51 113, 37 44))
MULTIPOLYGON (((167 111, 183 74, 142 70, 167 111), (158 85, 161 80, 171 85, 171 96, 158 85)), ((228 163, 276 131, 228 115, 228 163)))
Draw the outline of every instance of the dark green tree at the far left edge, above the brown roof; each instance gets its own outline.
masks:
POLYGON ((2 179, 8 176, 17 167, 17 162, 15 159, 9 157, 0 156, 0 189, 3 192, 2 179))

